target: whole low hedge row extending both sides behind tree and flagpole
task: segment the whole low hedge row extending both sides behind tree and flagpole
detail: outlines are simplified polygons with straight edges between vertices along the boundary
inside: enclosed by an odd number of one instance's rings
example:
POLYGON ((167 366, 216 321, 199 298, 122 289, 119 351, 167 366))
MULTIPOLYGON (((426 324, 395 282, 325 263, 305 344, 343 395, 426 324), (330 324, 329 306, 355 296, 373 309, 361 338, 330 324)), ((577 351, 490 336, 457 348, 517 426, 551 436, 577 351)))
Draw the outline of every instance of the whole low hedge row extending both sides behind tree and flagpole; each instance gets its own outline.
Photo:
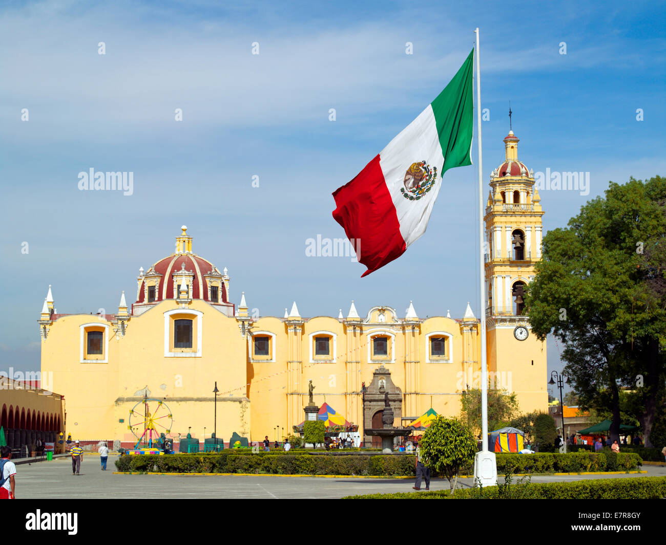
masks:
MULTIPOLYGON (((163 473, 269 473, 314 475, 414 475, 414 455, 236 453, 121 456, 119 471, 163 473)), ((498 474, 628 471, 641 463, 637 454, 498 454, 498 474)), ((472 474, 463 468, 461 474, 472 474)))

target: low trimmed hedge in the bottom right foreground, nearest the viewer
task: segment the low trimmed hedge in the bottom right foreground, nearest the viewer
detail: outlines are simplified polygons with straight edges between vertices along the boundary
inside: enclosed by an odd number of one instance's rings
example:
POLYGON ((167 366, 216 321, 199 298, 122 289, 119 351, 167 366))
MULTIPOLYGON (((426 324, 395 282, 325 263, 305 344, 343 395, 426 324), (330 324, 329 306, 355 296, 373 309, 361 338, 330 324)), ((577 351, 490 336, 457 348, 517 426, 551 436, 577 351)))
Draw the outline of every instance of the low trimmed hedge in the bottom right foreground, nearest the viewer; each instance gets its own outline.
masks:
POLYGON ((573 482, 547 482, 448 490, 346 496, 346 500, 469 500, 476 498, 531 500, 656 500, 666 496, 666 477, 605 478, 573 482))

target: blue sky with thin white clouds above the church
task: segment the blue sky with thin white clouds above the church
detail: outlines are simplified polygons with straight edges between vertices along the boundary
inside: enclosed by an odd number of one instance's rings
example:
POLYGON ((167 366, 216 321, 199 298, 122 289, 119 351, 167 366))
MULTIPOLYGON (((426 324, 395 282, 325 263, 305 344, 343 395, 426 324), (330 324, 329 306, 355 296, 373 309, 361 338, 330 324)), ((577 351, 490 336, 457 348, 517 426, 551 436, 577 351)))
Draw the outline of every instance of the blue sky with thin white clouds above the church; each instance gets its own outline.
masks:
POLYGON ((49 284, 60 313, 114 312, 181 224, 194 252, 228 268, 232 300, 245 291, 261 315, 294 300, 304 316, 346 314, 352 299, 400 315, 413 300, 421 317, 461 317, 470 301, 478 315, 476 149, 396 262, 361 279, 360 264, 304 252, 308 238, 344 236, 331 193, 444 88, 476 27, 484 179, 503 158, 509 100, 529 168, 590 173, 587 196, 541 192, 545 230, 609 180, 666 173, 659 3, 312 4, 3 4, 0 368, 39 369, 49 284), (133 195, 79 191, 89 168, 134 172, 133 195))

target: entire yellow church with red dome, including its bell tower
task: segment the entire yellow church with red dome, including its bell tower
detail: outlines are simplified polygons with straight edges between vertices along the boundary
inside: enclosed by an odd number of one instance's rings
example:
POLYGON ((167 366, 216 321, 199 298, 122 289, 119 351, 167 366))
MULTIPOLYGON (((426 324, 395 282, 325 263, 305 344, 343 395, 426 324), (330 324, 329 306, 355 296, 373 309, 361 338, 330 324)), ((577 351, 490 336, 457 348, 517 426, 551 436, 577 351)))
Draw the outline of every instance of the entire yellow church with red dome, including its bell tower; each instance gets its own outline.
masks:
POLYGON ((461 318, 424 319, 411 302, 404 316, 386 305, 361 315, 354 301, 346 316, 302 317, 296 302, 284 317, 250 315, 244 293, 232 303, 226 268, 193 252, 185 226, 172 254, 139 270, 130 307, 123 292, 114 314, 60 314, 49 286, 41 369, 67 400, 67 433, 132 445, 148 397, 159 400, 149 414, 155 430, 174 443, 214 427, 226 443, 234 432, 281 440, 304 421, 310 380, 317 405, 360 428, 376 427, 383 407, 364 387, 388 391, 396 426, 430 407, 458 415, 462 393, 480 387, 480 319, 492 386, 515 392, 521 412, 545 411, 545 342, 531 334, 522 300, 541 257, 543 212, 517 142, 513 132, 504 138, 490 180, 484 317, 468 304, 461 318))

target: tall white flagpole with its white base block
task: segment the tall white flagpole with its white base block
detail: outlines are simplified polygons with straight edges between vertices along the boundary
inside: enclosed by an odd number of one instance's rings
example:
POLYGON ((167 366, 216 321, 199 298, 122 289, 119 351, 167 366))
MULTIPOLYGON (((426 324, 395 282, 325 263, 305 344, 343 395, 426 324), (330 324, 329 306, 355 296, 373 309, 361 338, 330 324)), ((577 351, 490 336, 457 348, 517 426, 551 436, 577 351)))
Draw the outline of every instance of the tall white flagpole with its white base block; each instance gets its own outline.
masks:
POLYGON ((476 122, 479 149, 479 301, 481 328, 481 444, 482 450, 474 458, 474 482, 483 486, 497 484, 497 463, 495 453, 488 451, 488 365, 486 362, 486 261, 484 258, 484 164, 481 148, 481 63, 479 61, 479 29, 477 28, 476 47, 476 122))

